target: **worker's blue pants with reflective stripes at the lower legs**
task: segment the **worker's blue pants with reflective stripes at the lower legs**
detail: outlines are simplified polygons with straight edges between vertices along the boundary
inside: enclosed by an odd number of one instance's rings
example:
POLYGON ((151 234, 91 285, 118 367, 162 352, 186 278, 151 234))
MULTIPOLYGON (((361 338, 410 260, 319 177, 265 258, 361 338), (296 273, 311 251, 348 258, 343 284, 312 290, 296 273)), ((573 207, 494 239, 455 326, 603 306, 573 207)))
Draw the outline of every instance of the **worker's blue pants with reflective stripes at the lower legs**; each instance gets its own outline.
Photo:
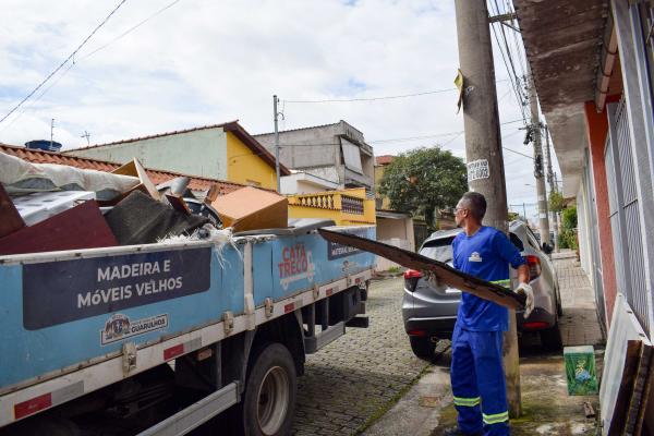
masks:
POLYGON ((450 372, 459 428, 486 436, 509 435, 501 331, 472 331, 457 323, 450 372))

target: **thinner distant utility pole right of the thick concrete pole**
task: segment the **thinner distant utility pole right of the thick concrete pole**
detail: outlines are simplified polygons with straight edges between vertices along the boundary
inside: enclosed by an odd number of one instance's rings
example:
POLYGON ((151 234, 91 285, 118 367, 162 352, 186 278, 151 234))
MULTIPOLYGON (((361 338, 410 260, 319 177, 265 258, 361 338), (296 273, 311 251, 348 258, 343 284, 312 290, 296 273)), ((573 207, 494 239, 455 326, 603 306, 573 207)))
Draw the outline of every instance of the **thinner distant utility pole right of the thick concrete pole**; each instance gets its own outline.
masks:
POLYGON ((536 179, 536 195, 538 197, 538 233, 541 244, 549 243, 549 219, 547 218, 547 190, 543 178, 543 145, 541 144, 541 120, 538 120, 538 98, 531 68, 526 65, 529 73, 529 104, 531 108, 531 131, 534 142, 534 178, 536 179))

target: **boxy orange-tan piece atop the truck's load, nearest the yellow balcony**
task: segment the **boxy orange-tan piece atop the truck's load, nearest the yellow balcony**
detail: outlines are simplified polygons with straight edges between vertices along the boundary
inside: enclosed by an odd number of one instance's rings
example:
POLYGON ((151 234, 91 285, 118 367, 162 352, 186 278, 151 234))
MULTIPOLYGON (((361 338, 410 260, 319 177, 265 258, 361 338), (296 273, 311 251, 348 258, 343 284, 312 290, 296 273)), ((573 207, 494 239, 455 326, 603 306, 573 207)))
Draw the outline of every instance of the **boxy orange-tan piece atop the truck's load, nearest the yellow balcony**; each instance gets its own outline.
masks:
POLYGON ((234 232, 288 227, 289 201, 270 191, 246 186, 222 195, 211 206, 222 226, 234 232))

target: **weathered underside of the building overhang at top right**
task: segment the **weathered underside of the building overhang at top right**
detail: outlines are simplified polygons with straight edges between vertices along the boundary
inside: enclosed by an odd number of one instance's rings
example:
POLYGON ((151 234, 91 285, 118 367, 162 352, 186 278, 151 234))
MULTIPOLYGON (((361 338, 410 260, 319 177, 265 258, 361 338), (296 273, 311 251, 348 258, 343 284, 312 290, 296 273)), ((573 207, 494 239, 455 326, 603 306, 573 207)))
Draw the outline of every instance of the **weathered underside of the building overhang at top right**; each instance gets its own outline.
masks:
POLYGON ((564 179, 564 195, 577 195, 586 141, 584 102, 595 98, 595 78, 606 17, 605 0, 513 0, 541 109, 564 179))

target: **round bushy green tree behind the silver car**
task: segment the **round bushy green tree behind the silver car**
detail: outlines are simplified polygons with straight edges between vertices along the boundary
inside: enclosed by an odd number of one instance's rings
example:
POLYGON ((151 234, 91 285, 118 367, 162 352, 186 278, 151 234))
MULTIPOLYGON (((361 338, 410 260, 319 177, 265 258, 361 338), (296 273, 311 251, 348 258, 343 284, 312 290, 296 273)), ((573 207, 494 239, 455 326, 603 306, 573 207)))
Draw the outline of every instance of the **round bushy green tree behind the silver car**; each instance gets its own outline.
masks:
POLYGON ((434 211, 457 205, 468 191, 463 159, 440 147, 421 147, 397 156, 384 170, 379 193, 393 210, 423 215, 434 229, 434 211))

